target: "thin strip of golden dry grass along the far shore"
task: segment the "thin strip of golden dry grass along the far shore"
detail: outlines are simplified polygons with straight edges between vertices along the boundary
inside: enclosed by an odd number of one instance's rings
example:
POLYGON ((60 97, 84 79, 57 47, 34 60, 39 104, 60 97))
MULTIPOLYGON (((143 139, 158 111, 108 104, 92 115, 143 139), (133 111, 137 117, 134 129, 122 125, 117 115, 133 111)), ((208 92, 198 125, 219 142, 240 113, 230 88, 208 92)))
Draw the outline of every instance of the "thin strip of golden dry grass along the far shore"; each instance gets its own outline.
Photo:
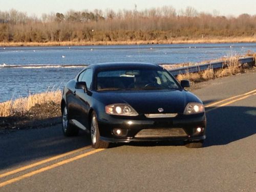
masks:
POLYGON ((93 45, 154 45, 154 44, 224 44, 256 42, 256 37, 219 37, 173 40, 134 40, 134 41, 52 41, 52 42, 0 42, 0 47, 34 46, 93 46, 93 45))

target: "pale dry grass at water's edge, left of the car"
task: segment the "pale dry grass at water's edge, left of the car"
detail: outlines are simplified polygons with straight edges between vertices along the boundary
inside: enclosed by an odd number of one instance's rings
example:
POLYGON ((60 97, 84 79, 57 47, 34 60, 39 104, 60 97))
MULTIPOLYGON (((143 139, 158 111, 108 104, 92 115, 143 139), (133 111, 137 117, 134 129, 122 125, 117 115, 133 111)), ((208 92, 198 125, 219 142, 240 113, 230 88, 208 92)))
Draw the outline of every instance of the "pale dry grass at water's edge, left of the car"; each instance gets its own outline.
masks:
POLYGON ((35 104, 42 104, 47 102, 60 103, 61 91, 50 91, 30 95, 28 97, 18 98, 0 103, 0 117, 15 116, 17 114, 25 114, 35 104))

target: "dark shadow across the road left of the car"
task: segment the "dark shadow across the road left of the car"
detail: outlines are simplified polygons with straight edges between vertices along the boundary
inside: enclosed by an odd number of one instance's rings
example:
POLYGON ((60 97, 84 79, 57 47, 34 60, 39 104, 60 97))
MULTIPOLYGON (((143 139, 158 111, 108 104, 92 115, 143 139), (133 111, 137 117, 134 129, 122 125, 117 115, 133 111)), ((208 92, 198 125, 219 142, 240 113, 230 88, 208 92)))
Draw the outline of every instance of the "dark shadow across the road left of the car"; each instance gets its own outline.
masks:
POLYGON ((31 164, 42 159, 91 145, 85 132, 65 137, 61 124, 40 129, 16 130, 0 135, 0 171, 13 166, 31 164))

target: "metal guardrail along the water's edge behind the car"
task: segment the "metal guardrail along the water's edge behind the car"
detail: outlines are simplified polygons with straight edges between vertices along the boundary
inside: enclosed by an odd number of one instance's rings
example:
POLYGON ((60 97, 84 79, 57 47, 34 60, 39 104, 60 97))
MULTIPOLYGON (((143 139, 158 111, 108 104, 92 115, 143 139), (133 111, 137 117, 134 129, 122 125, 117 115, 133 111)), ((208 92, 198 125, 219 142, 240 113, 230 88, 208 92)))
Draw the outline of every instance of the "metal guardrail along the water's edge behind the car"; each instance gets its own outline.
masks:
MULTIPOLYGON (((243 57, 238 59, 238 62, 240 62, 241 65, 244 65, 245 63, 248 63, 250 65, 255 64, 253 57, 243 57)), ((172 73, 174 76, 177 76, 179 74, 196 73, 196 72, 204 71, 207 69, 221 69, 225 67, 227 67, 227 64, 225 64, 224 61, 220 61, 220 62, 206 63, 202 65, 197 65, 197 66, 175 68, 175 69, 169 70, 169 72, 172 73)))

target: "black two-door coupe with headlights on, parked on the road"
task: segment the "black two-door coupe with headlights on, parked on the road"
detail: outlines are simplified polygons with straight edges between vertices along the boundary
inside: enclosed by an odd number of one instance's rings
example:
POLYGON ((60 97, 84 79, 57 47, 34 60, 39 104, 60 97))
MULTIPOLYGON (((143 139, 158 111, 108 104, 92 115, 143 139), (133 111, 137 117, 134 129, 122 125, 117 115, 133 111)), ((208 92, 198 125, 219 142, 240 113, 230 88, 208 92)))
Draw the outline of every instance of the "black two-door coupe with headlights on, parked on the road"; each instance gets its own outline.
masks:
POLYGON ((151 63, 90 65, 70 80, 61 101, 65 136, 82 129, 94 148, 110 142, 182 140, 201 147, 206 129, 202 101, 165 69, 151 63))

